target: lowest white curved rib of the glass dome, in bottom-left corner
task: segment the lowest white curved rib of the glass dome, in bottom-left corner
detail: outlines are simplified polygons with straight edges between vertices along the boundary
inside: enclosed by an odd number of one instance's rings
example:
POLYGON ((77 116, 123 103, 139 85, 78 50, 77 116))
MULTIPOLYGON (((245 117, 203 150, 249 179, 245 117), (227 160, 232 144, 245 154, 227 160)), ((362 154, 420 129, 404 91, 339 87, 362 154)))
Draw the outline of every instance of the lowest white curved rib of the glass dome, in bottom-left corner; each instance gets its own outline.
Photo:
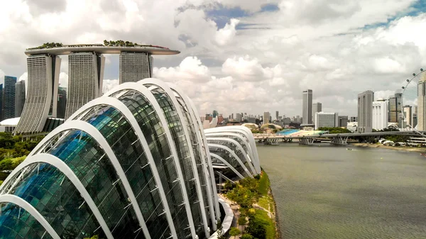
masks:
POLYGON ((25 211, 28 211, 28 213, 31 214, 35 218, 35 220, 40 223, 43 228, 45 228, 46 232, 49 233, 50 237, 53 239, 60 239, 58 233, 50 226, 48 221, 31 205, 28 203, 28 201, 25 201, 21 199, 18 196, 11 195, 11 194, 4 194, 0 196, 0 203, 11 203, 15 204, 17 206, 20 206, 25 211))

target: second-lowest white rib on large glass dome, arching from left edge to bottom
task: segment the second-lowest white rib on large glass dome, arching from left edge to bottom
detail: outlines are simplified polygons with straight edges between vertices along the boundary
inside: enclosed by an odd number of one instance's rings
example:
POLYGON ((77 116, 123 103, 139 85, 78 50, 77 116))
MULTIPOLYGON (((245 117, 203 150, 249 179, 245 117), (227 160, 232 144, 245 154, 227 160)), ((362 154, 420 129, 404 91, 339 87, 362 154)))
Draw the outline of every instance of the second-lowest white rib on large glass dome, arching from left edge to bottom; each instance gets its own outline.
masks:
MULTIPOLYGON (((63 124, 62 124, 63 125, 63 124)), ((107 223, 105 222, 104 218, 102 217, 102 214, 100 213, 99 209, 97 208, 96 204, 94 204, 93 199, 90 197, 89 192, 84 188, 84 185, 82 182, 80 182, 80 179, 78 179, 77 175, 75 175, 74 172, 68 167, 68 165, 60 160, 58 157, 55 157, 53 155, 47 154, 47 153, 40 153, 33 156, 28 156, 26 160, 21 162, 16 169, 11 172, 9 177, 6 178, 4 183, 1 185, 2 187, 10 182, 13 177, 16 176, 16 174, 19 174, 22 169, 27 167, 28 165, 32 165, 38 162, 45 162, 49 165, 53 165, 57 169, 62 172, 62 174, 65 174, 65 177, 70 179, 70 182, 74 184, 74 187, 79 191, 80 195, 86 201, 87 206, 89 206, 89 209, 92 210, 92 213, 94 217, 97 219, 99 226, 101 226, 102 230, 104 230, 105 235, 108 239, 114 239, 114 237, 111 234, 111 230, 109 230, 107 223)))

